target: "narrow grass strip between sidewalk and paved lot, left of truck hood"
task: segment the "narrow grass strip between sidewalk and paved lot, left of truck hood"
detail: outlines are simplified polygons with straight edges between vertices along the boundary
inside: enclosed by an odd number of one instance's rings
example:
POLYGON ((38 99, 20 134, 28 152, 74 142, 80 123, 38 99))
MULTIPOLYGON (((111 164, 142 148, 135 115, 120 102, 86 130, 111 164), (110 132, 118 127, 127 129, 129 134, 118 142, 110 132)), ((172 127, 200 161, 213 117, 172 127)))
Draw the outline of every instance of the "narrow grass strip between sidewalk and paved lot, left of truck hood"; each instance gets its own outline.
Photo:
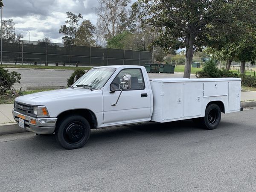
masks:
MULTIPOLYGON (((53 89, 47 89, 47 90, 53 90, 53 89)), ((14 99, 18 96, 28 95, 31 93, 38 93, 38 92, 47 91, 47 90, 25 90, 25 91, 21 91, 20 94, 16 96, 12 95, 10 92, 6 92, 5 94, 0 94, 0 104, 13 104, 14 99)))

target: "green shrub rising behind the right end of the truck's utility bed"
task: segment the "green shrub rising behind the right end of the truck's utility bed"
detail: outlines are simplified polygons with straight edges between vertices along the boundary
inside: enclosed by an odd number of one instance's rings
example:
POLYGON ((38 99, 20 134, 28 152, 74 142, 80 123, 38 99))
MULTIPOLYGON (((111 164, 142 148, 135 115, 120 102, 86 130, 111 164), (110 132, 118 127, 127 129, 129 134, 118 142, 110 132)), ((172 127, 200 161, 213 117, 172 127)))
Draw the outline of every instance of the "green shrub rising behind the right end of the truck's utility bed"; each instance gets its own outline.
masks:
POLYGON ((195 73, 197 78, 217 78, 217 77, 238 77, 236 73, 225 70, 222 68, 218 69, 213 60, 206 61, 201 71, 195 73))

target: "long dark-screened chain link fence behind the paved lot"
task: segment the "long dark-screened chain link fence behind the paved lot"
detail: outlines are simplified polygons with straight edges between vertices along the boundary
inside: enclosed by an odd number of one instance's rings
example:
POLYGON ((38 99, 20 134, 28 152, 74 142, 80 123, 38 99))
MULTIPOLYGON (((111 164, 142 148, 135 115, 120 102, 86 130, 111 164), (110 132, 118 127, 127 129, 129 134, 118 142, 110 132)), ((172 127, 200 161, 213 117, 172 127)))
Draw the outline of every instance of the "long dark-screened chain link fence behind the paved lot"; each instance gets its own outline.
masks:
POLYGON ((3 62, 63 66, 145 65, 152 52, 3 39, 3 62))

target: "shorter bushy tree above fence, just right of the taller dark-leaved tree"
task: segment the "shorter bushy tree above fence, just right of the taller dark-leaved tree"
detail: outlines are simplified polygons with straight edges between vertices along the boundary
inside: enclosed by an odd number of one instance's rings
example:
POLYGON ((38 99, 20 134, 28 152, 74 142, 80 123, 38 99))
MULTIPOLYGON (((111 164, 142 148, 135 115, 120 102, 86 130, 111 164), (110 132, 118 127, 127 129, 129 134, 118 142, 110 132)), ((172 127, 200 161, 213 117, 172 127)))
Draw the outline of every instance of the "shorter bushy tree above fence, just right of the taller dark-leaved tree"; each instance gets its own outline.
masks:
POLYGON ((90 22, 90 20, 84 20, 76 32, 74 44, 83 46, 95 46, 96 41, 93 39, 95 32, 96 27, 90 22))

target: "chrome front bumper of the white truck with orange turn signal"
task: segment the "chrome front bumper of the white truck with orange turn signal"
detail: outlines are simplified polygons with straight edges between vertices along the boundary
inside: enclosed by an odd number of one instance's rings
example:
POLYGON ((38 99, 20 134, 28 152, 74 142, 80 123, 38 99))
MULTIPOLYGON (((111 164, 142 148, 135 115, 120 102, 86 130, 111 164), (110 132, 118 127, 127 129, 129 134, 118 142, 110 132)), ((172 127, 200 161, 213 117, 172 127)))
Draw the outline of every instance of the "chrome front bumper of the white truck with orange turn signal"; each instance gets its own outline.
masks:
POLYGON ((12 111, 12 116, 19 125, 19 116, 25 117, 25 129, 36 134, 52 134, 55 131, 57 118, 35 118, 32 116, 24 115, 17 111, 12 111), (35 125, 30 123, 30 120, 35 120, 35 125))

